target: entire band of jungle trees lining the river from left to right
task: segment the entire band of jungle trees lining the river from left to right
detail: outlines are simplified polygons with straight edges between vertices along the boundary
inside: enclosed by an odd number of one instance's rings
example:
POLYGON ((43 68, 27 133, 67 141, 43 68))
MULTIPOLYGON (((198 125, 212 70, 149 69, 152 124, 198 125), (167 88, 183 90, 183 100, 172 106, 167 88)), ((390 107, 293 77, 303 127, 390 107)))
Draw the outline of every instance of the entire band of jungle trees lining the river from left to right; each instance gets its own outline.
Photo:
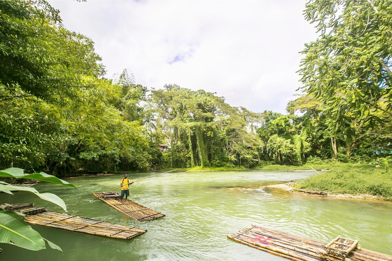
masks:
MULTIPOLYGON (((287 115, 228 105, 204 90, 106 79, 88 37, 45 1, 0 1, 0 167, 57 176, 88 170, 302 165, 392 154, 392 9, 383 1, 309 1, 287 115)), ((380 161, 380 160, 377 160, 380 161)))

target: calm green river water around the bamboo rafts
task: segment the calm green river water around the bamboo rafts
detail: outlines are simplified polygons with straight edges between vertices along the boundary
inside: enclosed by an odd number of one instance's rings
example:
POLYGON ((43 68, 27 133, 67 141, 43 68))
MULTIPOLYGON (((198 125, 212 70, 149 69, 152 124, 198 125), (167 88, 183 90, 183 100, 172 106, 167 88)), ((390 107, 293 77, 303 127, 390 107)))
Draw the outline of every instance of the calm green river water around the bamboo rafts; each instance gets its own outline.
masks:
MULTIPOLYGON (((155 173, 130 173, 136 180, 155 173)), ((236 243, 228 234, 251 224, 323 243, 337 236, 358 239, 366 249, 392 255, 392 202, 308 196, 263 188, 302 179, 311 172, 229 171, 166 173, 130 186, 130 198, 166 217, 139 222, 116 211, 91 192, 119 186, 121 174, 68 179, 72 189, 41 183, 67 204, 68 214, 148 229, 129 241, 33 225, 64 254, 53 249, 29 251, 0 244, 0 260, 287 260, 236 243)), ((61 208, 30 193, 0 195, 0 203, 35 202, 61 208)))

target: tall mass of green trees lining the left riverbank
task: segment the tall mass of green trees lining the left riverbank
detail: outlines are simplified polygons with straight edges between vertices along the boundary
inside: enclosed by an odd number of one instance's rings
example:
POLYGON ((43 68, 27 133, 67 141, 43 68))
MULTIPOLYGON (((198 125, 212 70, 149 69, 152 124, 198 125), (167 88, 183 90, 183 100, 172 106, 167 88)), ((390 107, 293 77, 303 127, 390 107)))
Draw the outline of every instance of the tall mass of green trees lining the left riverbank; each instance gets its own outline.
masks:
POLYGON ((0 28, 0 166, 57 175, 149 168, 135 122, 146 89, 127 71, 118 84, 99 79, 93 42, 63 28, 45 1, 0 2, 0 28))

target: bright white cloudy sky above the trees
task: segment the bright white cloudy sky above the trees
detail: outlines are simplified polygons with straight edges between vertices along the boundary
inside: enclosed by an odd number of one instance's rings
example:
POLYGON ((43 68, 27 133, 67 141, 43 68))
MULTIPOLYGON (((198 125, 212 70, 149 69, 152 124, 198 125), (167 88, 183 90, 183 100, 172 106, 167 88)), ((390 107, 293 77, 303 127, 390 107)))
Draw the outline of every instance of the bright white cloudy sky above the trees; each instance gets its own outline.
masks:
POLYGON ((305 1, 51 1, 68 30, 90 37, 107 77, 178 84, 231 106, 285 113, 300 87, 299 54, 316 39, 305 1))

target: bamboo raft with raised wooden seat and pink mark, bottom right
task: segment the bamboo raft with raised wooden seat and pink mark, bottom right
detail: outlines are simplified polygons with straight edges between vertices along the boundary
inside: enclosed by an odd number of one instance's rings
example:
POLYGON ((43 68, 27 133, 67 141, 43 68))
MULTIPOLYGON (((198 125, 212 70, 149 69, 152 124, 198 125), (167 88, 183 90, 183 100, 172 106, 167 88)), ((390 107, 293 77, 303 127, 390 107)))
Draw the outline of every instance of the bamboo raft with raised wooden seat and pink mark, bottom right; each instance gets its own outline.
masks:
POLYGON ((329 244, 252 225, 227 236, 236 242, 295 261, 392 261, 392 256, 359 247, 358 240, 337 237, 329 244))

